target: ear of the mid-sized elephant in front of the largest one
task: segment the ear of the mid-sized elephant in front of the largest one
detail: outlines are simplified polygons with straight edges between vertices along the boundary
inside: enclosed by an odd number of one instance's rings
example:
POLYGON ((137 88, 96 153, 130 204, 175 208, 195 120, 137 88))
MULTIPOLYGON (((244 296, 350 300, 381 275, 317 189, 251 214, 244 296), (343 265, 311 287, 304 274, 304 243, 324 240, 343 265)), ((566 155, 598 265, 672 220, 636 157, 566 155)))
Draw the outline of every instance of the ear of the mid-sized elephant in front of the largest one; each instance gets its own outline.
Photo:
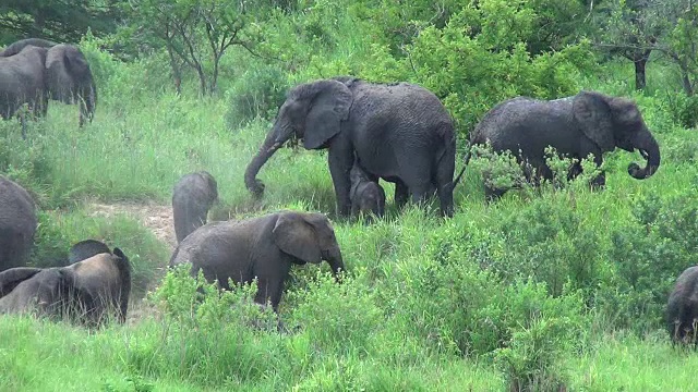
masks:
POLYGON ((300 213, 284 212, 272 230, 274 243, 282 252, 305 262, 318 264, 322 252, 313 225, 300 213))

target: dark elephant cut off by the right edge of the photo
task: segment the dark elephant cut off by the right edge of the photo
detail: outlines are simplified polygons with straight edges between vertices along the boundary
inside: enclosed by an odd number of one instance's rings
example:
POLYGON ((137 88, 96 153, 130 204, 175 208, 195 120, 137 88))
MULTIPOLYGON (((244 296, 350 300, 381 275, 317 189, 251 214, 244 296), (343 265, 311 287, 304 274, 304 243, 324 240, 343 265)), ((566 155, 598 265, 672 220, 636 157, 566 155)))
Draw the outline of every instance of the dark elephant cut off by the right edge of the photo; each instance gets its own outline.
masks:
POLYGON ((686 341, 698 345, 695 323, 698 322, 698 266, 687 268, 676 279, 666 305, 666 328, 675 343, 686 341))

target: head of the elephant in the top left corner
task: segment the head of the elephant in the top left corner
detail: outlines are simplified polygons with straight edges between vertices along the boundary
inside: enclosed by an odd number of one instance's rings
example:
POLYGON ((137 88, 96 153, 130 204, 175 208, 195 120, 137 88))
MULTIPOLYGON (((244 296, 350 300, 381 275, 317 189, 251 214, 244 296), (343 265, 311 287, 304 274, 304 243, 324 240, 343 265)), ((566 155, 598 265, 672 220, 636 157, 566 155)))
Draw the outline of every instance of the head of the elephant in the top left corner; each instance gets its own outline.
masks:
POLYGON ((97 88, 85 56, 72 45, 59 44, 46 54, 49 97, 64 103, 77 103, 80 125, 92 122, 97 105, 97 88))

